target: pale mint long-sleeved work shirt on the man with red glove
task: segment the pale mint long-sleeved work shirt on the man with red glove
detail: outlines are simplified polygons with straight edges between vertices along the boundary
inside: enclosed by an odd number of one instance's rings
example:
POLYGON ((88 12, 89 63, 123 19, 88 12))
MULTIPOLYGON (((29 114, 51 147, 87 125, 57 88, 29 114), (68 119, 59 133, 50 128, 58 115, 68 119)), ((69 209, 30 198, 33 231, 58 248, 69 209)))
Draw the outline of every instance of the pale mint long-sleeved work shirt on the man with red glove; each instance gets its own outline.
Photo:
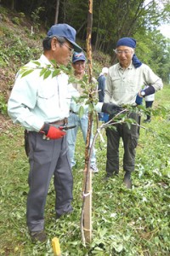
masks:
MULTIPOLYGON (((45 55, 37 61, 41 63, 40 67, 50 64, 45 55)), ((26 67, 36 67, 36 64, 30 61, 26 67)), ((8 115, 14 124, 20 123, 28 131, 40 131, 44 122, 67 118, 71 96, 77 96, 77 90, 68 84, 65 73, 43 79, 41 70, 36 68, 23 78, 19 72, 8 100, 8 115)))

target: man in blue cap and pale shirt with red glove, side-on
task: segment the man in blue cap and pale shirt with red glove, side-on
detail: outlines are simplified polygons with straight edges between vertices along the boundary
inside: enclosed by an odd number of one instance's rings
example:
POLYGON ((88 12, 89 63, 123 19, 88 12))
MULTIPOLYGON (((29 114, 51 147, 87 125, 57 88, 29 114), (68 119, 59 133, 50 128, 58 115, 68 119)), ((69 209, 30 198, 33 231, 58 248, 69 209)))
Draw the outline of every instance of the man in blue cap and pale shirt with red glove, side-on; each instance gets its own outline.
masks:
MULTIPOLYGON (((52 26, 44 38, 43 54, 37 60, 39 67, 57 64, 67 65, 74 50, 82 49, 75 42, 76 31, 67 24, 52 26)), ((26 219, 32 241, 45 241, 44 207, 48 187, 54 176, 56 218, 72 212, 72 173, 68 156, 65 131, 70 110, 71 95, 76 91, 68 85, 68 76, 59 73, 43 79, 42 69, 30 61, 27 67, 34 71, 21 78, 16 76, 14 88, 8 100, 8 114, 14 124, 28 131, 29 143, 29 193, 26 219)))

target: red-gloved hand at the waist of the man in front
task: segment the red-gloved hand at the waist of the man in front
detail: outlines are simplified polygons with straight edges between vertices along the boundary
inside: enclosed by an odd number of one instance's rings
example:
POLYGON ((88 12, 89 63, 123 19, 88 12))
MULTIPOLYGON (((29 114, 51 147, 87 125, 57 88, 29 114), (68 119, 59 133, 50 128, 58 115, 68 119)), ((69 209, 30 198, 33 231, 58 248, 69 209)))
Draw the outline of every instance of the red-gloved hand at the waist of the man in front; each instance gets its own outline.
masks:
POLYGON ((44 133, 46 137, 50 139, 59 139, 65 136, 65 131, 62 131, 62 129, 59 129, 55 127, 54 125, 49 125, 45 123, 40 130, 40 132, 44 133))

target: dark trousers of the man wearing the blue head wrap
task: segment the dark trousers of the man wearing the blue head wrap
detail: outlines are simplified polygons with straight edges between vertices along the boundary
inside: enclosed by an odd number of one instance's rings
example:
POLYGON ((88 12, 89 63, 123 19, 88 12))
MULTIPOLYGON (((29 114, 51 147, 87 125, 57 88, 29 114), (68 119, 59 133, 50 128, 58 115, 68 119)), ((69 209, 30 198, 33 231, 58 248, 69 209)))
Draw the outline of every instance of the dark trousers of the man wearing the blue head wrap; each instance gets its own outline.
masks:
MULTIPOLYGON (((138 113, 130 113, 129 118, 135 119, 140 123, 140 116, 138 113)), ((119 143, 122 137, 124 154, 123 154, 123 169, 125 172, 133 172, 135 164, 136 147, 139 139, 139 126, 131 125, 129 128, 127 124, 113 125, 116 130, 107 128, 107 161, 106 172, 111 176, 114 172, 119 172, 119 143)))

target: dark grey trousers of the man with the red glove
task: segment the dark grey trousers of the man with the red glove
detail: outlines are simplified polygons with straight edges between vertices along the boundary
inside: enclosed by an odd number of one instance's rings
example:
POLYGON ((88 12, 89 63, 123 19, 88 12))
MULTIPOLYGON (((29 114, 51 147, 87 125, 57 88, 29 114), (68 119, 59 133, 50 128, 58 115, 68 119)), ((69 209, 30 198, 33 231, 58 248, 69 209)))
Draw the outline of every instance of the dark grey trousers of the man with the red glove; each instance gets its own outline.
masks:
POLYGON ((39 231, 44 228, 44 207, 51 178, 54 176, 55 212, 58 215, 72 210, 73 178, 66 136, 56 140, 44 140, 42 134, 29 131, 28 143, 30 190, 26 218, 28 229, 39 231))

